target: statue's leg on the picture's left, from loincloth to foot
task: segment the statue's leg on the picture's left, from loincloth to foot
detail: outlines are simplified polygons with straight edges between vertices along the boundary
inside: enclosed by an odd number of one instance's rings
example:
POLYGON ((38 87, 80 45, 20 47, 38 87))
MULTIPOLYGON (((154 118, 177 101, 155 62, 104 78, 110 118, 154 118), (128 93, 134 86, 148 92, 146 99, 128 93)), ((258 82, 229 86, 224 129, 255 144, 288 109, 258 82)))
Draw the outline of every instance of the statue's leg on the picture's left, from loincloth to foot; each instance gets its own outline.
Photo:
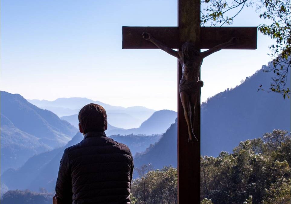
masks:
POLYGON ((185 120, 188 126, 188 134, 189 134, 188 141, 190 141, 192 140, 193 136, 195 137, 192 131, 190 99, 189 99, 189 95, 185 91, 180 92, 180 98, 181 98, 181 102, 184 108, 185 120))

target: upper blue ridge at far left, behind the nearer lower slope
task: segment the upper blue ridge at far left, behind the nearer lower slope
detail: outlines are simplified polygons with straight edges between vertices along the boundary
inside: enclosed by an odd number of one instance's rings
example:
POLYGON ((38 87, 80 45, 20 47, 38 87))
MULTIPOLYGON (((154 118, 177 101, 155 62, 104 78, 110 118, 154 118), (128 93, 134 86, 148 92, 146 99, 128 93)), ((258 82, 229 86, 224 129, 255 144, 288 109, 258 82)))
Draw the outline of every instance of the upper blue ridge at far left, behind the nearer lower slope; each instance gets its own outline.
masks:
POLYGON ((40 138, 51 147, 66 144, 77 131, 53 112, 30 104, 19 94, 1 91, 1 113, 21 131, 40 138))

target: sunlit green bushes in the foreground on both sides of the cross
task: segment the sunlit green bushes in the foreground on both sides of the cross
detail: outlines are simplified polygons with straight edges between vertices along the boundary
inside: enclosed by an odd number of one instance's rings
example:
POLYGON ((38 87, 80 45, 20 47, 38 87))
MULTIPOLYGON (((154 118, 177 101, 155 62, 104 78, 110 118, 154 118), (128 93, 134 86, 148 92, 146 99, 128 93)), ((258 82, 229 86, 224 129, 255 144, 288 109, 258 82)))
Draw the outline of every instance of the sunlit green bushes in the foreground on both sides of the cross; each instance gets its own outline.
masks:
MULTIPOLYGON (((133 180, 134 204, 176 204, 177 169, 143 165, 133 180), (148 171, 148 172, 147 172, 148 171), (147 173, 146 173, 147 172, 147 173)), ((290 203, 290 134, 273 130, 218 157, 201 157, 201 204, 290 203)))

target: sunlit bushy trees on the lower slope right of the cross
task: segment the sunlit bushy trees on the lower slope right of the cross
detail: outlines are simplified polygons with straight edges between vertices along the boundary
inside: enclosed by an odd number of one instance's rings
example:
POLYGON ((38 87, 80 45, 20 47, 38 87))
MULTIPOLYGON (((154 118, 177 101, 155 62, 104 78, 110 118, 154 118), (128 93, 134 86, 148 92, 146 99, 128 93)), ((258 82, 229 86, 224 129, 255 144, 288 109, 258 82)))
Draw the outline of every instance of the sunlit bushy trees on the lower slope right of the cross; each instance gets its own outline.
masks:
POLYGON ((201 199, 213 203, 290 203, 290 135, 274 130, 233 154, 201 157, 201 199))

